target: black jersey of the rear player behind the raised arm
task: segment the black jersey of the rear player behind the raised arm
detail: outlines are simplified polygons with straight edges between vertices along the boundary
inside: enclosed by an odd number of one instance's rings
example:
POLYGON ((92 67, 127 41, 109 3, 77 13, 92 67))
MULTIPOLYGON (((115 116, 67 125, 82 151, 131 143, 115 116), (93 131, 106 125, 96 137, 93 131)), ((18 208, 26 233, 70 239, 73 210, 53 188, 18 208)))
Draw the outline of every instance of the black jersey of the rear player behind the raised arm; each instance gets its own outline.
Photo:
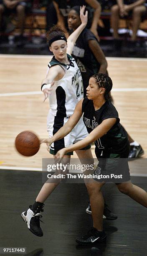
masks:
MULTIPOLYGON (((99 72, 100 63, 97 61, 93 52, 89 48, 89 40, 96 40, 94 34, 87 28, 81 32, 80 36, 76 40, 72 56, 74 57, 76 64, 78 65, 84 85, 84 92, 89 84, 89 78, 99 72)), ((98 41, 97 41, 98 42, 98 41)), ((85 94, 84 94, 85 95, 85 94)))

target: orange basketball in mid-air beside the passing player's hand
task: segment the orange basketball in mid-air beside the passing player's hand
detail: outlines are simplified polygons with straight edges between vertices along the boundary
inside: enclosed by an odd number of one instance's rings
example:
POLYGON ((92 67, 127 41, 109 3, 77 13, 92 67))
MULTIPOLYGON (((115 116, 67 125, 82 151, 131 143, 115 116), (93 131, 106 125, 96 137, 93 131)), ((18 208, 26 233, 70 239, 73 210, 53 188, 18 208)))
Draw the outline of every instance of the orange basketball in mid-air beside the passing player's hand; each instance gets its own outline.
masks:
POLYGON ((23 156, 33 156, 40 148, 40 141, 33 132, 23 131, 15 138, 15 147, 23 156))

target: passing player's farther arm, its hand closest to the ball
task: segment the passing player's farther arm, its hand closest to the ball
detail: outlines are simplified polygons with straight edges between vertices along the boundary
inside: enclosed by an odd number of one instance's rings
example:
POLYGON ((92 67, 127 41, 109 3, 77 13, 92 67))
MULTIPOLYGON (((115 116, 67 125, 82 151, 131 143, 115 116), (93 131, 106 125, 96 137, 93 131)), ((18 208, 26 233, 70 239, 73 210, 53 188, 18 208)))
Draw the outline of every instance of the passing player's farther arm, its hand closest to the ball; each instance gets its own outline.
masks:
POLYGON ((68 133, 71 132, 71 130, 74 128, 74 126, 78 123, 79 119, 82 116, 82 102, 83 100, 80 100, 78 104, 76 105, 76 108, 74 110, 73 115, 68 119, 67 123, 61 127, 58 132, 54 134, 53 137, 49 139, 43 139, 41 143, 47 143, 47 146, 49 147, 54 141, 58 141, 61 138, 65 137, 68 133))

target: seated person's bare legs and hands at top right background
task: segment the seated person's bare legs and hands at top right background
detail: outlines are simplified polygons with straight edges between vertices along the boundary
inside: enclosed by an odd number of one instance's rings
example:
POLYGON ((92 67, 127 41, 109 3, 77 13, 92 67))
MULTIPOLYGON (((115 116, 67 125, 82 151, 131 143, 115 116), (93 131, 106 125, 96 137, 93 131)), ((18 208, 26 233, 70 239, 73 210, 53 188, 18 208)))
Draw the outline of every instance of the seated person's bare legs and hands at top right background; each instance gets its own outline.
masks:
POLYGON ((119 18, 125 18, 132 15, 132 46, 135 45, 137 39, 137 30, 139 28, 142 15, 146 12, 145 0, 117 0, 117 5, 113 5, 112 9, 112 28, 114 39, 119 40, 118 26, 119 18))

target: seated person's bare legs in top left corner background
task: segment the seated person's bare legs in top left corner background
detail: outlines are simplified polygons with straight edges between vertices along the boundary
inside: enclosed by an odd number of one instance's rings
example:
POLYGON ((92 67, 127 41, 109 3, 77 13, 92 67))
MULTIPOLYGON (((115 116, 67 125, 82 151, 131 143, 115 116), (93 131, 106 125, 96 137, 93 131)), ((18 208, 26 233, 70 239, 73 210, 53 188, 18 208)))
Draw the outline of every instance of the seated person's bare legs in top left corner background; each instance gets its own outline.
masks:
POLYGON ((26 17, 25 11, 29 2, 29 0, 0 0, 0 30, 2 28, 3 15, 16 13, 19 27, 19 34, 17 37, 18 45, 21 45, 23 41, 23 31, 26 17))

